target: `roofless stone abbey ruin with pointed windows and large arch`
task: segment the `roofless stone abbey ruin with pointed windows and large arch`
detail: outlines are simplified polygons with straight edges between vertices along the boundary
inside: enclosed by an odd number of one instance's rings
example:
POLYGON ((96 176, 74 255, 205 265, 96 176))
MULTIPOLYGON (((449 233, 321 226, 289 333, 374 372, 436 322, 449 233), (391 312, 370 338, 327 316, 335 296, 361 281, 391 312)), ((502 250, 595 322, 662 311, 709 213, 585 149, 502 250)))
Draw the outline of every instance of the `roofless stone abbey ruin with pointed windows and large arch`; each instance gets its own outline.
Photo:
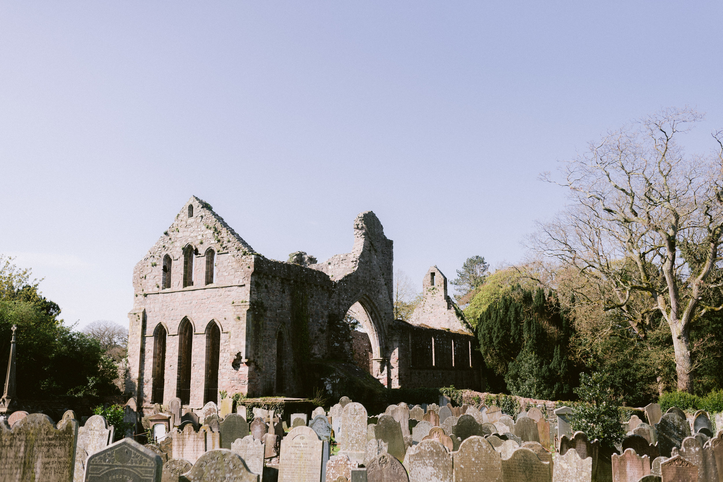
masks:
POLYGON ((197 409, 222 390, 341 393, 365 373, 380 387, 479 390, 476 338, 447 279, 432 266, 422 286, 411 323, 395 320, 393 241, 372 211, 354 220, 351 253, 285 262, 254 251, 194 196, 133 270, 126 390, 139 406, 180 398, 197 409))

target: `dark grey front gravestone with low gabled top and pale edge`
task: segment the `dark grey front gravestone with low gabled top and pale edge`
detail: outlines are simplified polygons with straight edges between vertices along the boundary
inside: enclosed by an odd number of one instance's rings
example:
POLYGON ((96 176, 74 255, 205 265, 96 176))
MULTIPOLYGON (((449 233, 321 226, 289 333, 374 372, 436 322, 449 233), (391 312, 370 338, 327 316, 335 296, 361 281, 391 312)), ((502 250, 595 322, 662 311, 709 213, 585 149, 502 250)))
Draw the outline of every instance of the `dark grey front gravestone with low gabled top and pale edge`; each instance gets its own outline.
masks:
MULTIPOLYGON (((90 455, 85 466, 85 482, 158 482, 161 480, 163 461, 157 454, 134 440, 121 439, 90 455)), ((35 480, 39 482, 59 479, 35 480)))

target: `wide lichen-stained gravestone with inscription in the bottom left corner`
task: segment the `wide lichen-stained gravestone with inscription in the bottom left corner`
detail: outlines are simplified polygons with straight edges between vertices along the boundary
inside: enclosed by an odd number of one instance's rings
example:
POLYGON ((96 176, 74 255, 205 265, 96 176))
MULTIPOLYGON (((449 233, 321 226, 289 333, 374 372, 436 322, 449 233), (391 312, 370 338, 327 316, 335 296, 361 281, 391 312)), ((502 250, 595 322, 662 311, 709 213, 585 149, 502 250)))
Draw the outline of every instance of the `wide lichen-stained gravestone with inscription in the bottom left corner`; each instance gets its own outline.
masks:
POLYGON ((43 413, 31 413, 11 429, 0 424, 0 481, 73 480, 78 421, 55 428, 43 413))

